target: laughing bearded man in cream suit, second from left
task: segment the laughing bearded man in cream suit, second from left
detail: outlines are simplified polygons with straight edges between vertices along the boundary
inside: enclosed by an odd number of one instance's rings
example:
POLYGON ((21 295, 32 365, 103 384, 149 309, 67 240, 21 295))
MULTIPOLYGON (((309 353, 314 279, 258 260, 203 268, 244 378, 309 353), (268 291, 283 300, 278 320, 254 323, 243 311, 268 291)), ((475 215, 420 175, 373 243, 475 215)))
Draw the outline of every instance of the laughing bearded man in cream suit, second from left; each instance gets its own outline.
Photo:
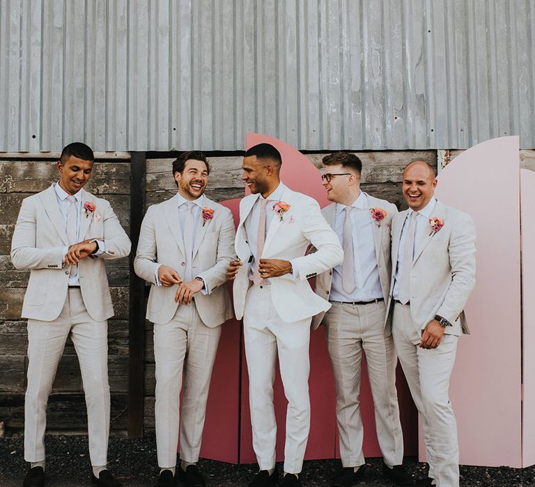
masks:
POLYGON ((197 468, 210 376, 221 324, 233 317, 226 268, 234 259, 231 211, 204 195, 210 166, 205 154, 185 152, 173 162, 178 193, 149 207, 141 225, 134 270, 150 282, 147 318, 154 323, 156 444, 160 478, 204 486, 197 468), (179 421, 183 367, 182 421, 179 421))

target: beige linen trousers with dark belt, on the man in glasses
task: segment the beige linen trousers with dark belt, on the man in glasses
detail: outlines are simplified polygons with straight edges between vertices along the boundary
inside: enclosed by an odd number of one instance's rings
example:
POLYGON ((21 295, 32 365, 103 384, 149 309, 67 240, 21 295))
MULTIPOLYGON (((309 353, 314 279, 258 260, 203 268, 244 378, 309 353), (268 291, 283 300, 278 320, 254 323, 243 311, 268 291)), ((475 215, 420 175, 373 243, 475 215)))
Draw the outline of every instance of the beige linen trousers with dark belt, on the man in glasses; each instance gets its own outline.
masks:
POLYGON ((360 414, 362 351, 375 406, 375 428, 387 465, 403 463, 403 433, 396 392, 396 351, 385 327, 385 302, 331 303, 323 319, 336 386, 336 419, 343 467, 364 465, 360 414))

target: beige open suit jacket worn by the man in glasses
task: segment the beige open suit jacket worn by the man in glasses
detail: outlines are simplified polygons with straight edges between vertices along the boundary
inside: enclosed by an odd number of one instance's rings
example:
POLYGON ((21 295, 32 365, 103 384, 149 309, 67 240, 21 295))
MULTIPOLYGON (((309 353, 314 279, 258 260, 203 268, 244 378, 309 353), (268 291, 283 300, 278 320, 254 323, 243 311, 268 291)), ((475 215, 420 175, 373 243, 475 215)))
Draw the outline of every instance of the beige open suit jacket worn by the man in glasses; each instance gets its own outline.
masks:
MULTIPOLYGON (((377 257, 377 267, 379 271, 379 280, 382 288, 382 296, 385 298, 385 303, 388 301, 390 294, 390 276, 391 276, 391 260, 390 260, 390 228, 392 218, 398 212, 396 205, 388 202, 387 200, 380 200, 379 198, 373 198, 368 196, 369 207, 382 208, 387 212, 385 218, 381 221, 373 220, 373 241, 375 242, 375 257, 377 257)), ((336 203, 332 203, 325 207, 322 211, 323 216, 327 223, 334 229, 334 218, 336 216, 336 203)), ((371 219, 371 214, 370 214, 371 219)), ((316 294, 322 298, 329 299, 329 293, 331 292, 332 285, 332 269, 327 272, 321 273, 316 278, 316 294)), ((320 326, 323 320, 324 312, 316 314, 312 319, 312 329, 316 330, 320 326)))

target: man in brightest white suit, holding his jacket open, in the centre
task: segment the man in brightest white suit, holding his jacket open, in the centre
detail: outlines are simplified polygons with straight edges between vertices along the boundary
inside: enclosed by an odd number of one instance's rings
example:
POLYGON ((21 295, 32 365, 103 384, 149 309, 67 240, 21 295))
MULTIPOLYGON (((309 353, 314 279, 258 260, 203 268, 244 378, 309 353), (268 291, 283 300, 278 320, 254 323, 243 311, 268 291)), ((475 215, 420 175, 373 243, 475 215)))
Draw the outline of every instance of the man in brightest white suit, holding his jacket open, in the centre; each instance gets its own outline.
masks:
POLYGON ((343 257, 318 203, 284 186, 280 168, 281 155, 270 144, 245 152, 242 179, 252 194, 240 202, 235 241, 239 260, 228 268, 229 277, 235 279, 236 317, 243 317, 253 447, 260 467, 251 487, 277 484, 273 407, 277 355, 288 399, 284 478, 279 485, 300 485, 310 426, 310 321, 330 308, 313 293, 307 279, 336 266, 343 257), (310 244, 318 250, 304 255, 310 244))

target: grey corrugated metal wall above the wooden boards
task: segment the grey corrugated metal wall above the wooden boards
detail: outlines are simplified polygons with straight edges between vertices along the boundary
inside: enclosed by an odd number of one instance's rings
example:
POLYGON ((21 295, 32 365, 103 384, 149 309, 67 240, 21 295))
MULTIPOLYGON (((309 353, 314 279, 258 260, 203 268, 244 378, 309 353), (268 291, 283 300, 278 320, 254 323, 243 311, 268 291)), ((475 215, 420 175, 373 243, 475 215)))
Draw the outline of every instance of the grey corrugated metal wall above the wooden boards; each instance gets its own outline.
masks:
POLYGON ((535 147, 535 0, 0 0, 0 151, 535 147))

